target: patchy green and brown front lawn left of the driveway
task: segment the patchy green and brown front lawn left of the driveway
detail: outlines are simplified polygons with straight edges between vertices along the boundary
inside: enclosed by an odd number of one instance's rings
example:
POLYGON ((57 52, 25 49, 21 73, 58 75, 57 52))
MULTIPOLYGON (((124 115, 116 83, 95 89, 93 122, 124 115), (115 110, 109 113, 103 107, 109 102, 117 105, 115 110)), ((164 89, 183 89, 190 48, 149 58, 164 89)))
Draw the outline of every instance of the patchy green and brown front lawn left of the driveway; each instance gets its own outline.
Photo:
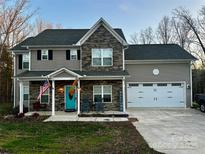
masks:
POLYGON ((0 120, 0 153, 158 153, 130 122, 0 120))

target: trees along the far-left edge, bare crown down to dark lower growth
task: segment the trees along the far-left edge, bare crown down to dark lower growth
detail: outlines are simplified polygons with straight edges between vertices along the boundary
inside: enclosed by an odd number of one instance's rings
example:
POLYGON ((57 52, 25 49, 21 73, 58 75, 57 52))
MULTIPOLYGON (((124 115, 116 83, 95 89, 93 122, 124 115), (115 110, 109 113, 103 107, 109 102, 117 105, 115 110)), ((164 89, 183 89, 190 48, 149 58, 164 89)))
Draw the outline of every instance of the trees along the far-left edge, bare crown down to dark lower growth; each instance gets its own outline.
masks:
POLYGON ((8 50, 30 34, 28 1, 16 0, 0 3, 0 100, 11 101, 12 55, 8 50))

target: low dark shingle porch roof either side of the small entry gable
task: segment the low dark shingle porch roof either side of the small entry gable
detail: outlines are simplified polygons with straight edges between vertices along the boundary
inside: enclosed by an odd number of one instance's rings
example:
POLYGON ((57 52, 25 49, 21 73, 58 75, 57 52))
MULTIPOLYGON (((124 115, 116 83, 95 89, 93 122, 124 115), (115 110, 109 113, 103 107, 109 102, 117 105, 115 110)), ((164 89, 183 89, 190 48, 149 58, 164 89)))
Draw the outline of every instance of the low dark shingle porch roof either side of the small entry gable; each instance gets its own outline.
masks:
MULTIPOLYGON (((54 71, 25 71, 25 72, 18 74, 15 77, 42 77, 42 76, 47 76, 54 71)), ((77 71, 77 70, 72 70, 72 71, 81 76, 86 75, 87 77, 89 76, 105 76, 106 77, 106 76, 127 76, 129 75, 129 73, 126 70, 125 71, 109 71, 109 72, 108 71, 100 71, 100 72, 77 71)))

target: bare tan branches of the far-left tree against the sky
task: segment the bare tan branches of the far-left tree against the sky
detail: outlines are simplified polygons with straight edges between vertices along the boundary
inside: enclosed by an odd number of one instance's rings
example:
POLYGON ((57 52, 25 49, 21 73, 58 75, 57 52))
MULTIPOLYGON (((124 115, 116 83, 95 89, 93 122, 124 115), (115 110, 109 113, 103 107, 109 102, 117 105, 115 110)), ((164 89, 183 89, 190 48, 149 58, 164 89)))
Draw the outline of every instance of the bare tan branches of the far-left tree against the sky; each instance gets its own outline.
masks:
POLYGON ((25 38, 25 34, 21 32, 29 26, 28 21, 35 13, 34 11, 26 14, 27 4, 27 0, 16 0, 13 6, 9 6, 7 1, 0 4, 0 57, 4 47, 10 48, 19 43, 22 40, 19 39, 20 36, 25 38))

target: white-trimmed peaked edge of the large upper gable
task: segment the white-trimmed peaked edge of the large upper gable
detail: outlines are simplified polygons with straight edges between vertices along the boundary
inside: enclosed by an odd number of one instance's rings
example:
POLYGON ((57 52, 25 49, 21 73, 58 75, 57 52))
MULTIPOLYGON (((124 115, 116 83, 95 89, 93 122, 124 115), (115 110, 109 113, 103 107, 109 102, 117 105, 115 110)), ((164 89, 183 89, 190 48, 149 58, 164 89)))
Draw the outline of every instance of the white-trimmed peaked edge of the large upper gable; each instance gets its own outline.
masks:
POLYGON ((100 18, 76 43, 76 45, 82 45, 101 25, 103 25, 121 44, 127 45, 126 40, 122 38, 103 18, 100 18))

